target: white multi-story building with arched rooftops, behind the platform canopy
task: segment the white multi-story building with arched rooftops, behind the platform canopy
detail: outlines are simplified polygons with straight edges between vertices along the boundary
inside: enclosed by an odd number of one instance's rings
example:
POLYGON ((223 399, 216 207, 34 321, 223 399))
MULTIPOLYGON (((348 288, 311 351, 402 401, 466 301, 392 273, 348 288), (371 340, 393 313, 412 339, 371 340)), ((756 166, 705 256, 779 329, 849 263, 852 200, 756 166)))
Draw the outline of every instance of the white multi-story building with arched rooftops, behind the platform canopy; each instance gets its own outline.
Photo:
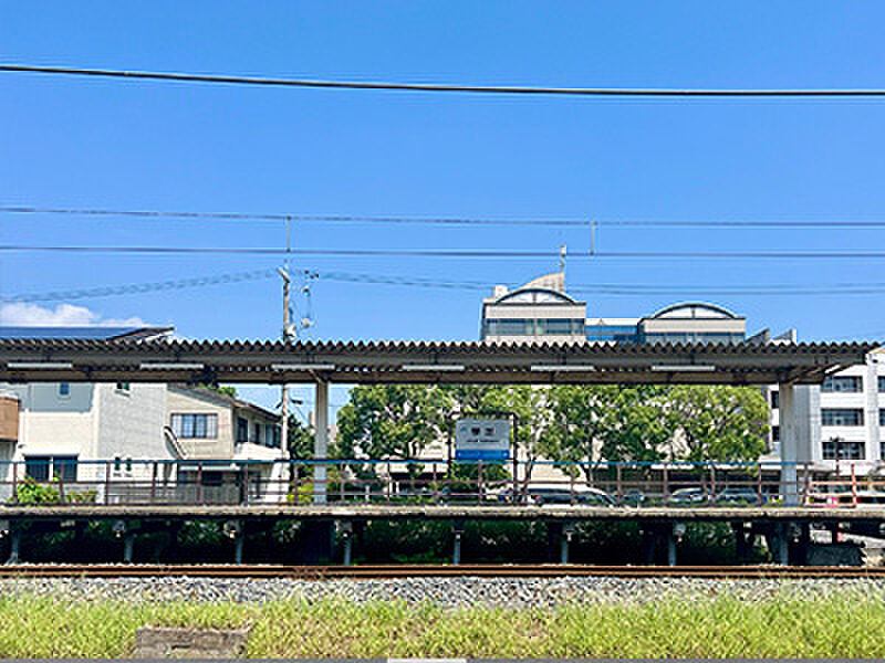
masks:
MULTIPOLYGON (((514 291, 496 286, 483 301, 482 338, 494 340, 586 340, 590 343, 795 343, 795 332, 772 338, 761 332, 747 337, 747 319, 721 306, 704 302, 674 304, 637 318, 590 317, 583 334, 564 334, 562 323, 572 320, 586 304, 565 293, 562 273, 542 276, 514 291), (556 313, 562 312, 562 313, 556 313), (513 322, 501 322, 501 320, 513 322), (501 334, 507 330, 507 334, 501 334)), ((570 332, 580 325, 570 322, 570 332)), ((780 459, 779 393, 763 387, 771 404, 771 451, 780 459)), ((799 460, 819 471, 847 474, 876 472, 885 461, 885 352, 870 355, 856 366, 829 377, 822 387, 799 386, 794 390, 799 413, 799 460)))

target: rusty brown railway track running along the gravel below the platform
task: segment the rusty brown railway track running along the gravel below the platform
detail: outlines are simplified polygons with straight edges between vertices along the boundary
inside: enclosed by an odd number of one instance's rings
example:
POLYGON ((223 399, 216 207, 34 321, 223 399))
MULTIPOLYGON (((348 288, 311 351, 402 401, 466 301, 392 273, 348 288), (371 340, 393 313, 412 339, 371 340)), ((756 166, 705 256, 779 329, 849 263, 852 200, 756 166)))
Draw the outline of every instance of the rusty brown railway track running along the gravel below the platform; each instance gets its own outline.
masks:
POLYGON ((8 565, 0 578, 296 578, 391 579, 427 577, 479 578, 885 578, 885 567, 775 566, 584 566, 584 565, 439 565, 439 566, 278 566, 278 565, 8 565))

